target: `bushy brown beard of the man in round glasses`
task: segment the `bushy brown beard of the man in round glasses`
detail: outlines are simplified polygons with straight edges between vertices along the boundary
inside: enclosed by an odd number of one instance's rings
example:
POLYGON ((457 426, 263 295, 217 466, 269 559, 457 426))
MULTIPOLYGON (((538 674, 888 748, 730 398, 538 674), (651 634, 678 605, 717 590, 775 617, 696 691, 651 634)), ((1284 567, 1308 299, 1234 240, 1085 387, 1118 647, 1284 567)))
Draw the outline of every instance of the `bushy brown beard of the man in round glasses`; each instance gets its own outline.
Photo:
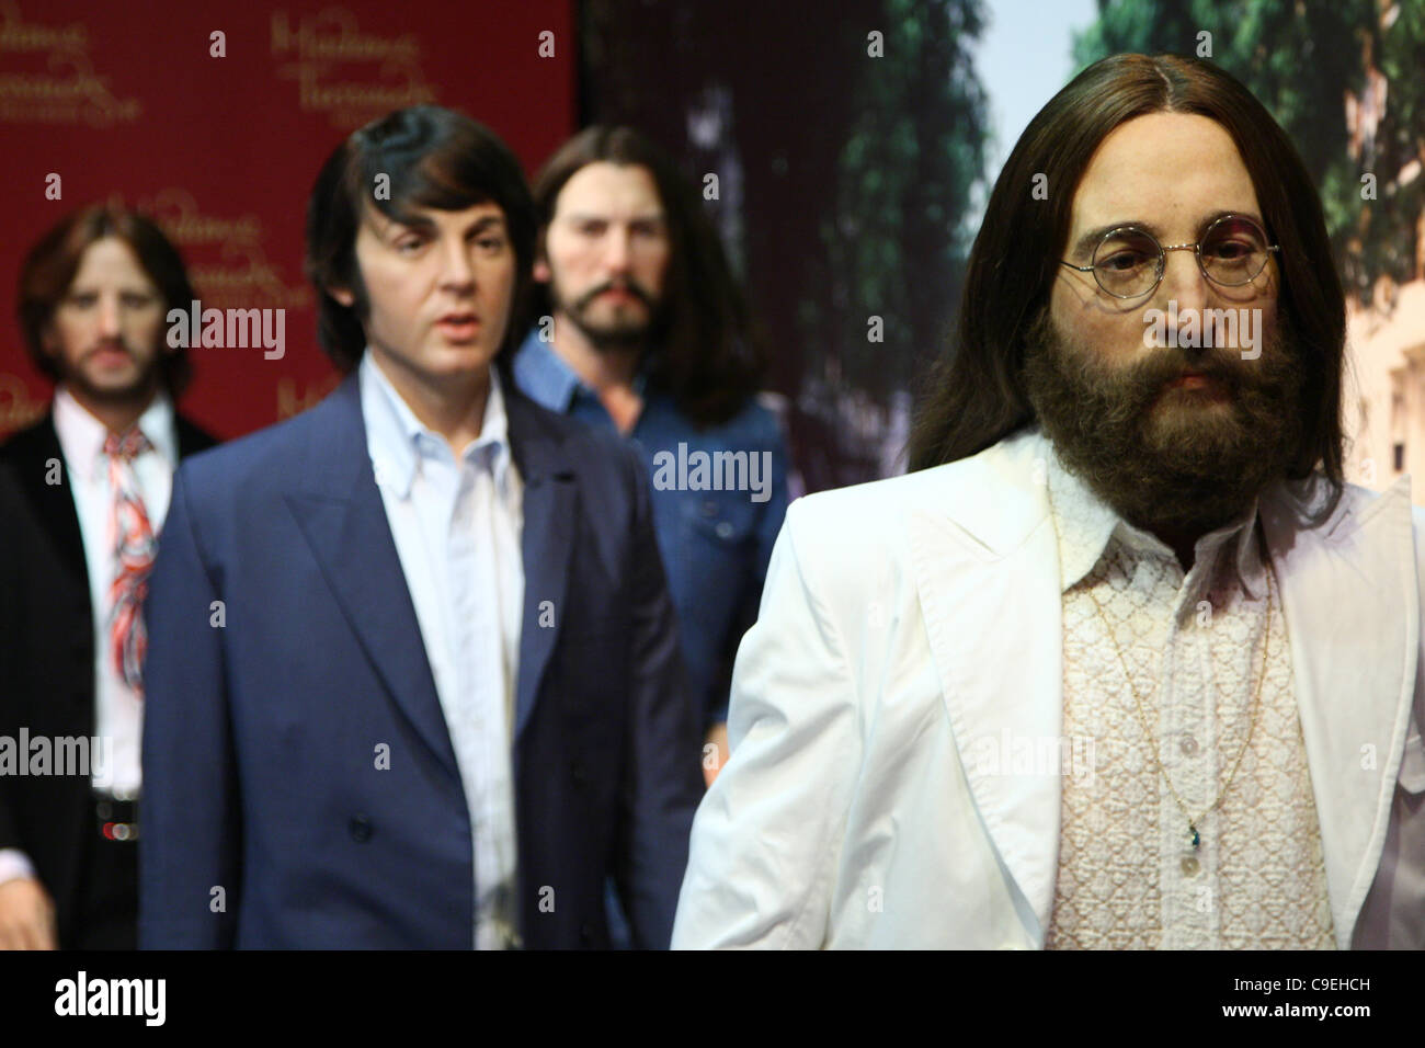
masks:
POLYGON ((1063 338, 1046 307, 1026 338, 1029 402, 1064 466, 1139 528, 1206 533, 1247 512, 1288 476, 1302 436, 1301 355, 1278 312, 1261 356, 1161 348, 1131 364, 1102 361, 1063 338), (1193 371, 1208 389, 1167 389, 1193 371))

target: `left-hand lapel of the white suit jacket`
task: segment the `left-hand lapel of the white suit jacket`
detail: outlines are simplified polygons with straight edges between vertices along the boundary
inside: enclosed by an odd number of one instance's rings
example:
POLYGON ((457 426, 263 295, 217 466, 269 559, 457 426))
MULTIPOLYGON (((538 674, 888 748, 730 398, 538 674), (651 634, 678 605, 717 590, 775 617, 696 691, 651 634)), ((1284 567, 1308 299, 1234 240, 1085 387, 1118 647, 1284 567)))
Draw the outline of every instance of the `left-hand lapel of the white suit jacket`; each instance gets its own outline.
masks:
POLYGON ((908 526, 969 790, 1042 942, 1059 858, 1060 780, 1012 764, 1063 730, 1059 550, 1036 461, 1043 451, 1037 433, 1027 433, 946 468, 958 471, 953 486, 942 485, 938 505, 908 526))

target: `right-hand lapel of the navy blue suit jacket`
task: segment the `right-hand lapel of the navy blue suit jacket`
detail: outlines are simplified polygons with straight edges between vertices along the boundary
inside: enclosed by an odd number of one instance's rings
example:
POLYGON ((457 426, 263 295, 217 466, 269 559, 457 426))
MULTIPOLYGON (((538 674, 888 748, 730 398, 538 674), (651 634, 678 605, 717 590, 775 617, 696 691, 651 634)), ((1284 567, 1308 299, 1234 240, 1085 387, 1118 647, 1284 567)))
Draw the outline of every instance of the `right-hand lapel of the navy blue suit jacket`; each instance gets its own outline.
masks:
POLYGON ((510 451, 524 482, 520 549, 524 558, 524 610, 520 622, 520 666, 514 697, 514 740, 534 711, 554 642, 564 622, 564 593, 574 548, 579 488, 561 451, 560 436, 539 409, 506 381, 504 408, 510 451))

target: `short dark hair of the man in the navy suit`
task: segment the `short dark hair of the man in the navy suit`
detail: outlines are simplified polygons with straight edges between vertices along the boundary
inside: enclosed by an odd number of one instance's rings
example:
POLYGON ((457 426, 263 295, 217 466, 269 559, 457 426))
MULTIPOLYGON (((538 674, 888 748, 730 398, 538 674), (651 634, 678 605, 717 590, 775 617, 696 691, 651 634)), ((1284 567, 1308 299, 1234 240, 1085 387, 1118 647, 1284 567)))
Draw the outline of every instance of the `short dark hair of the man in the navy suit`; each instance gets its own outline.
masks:
POLYGON ((420 207, 462 211, 497 204, 504 211, 516 274, 496 359, 507 364, 529 324, 534 265, 534 208, 509 147, 463 113, 412 106, 353 131, 326 158, 306 205, 306 275, 316 288, 318 339, 343 372, 366 349, 362 318, 369 301, 356 265, 356 232, 366 204, 393 221, 409 220, 412 208, 420 207), (378 175, 389 178, 389 194, 375 192, 378 175), (338 302, 333 288, 349 289, 355 304, 338 302))

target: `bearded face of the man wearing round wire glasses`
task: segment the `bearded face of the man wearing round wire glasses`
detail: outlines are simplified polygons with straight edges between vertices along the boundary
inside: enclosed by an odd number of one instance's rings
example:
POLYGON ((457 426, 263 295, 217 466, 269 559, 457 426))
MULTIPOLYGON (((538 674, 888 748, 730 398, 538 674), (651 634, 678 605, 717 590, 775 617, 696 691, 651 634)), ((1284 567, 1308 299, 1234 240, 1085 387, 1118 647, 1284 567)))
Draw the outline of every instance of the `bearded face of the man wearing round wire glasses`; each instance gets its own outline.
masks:
MULTIPOLYGON (((1265 227, 1227 131, 1201 115, 1139 117, 1089 163, 1060 257, 1089 265, 1094 231, 1126 224, 1164 247, 1190 244, 1223 212, 1265 227)), ((1113 298, 1093 272, 1059 267, 1027 346, 1030 401, 1066 463, 1134 523, 1217 526, 1285 472, 1301 432, 1301 379, 1278 289, 1270 255, 1250 284, 1223 287, 1204 277, 1191 250, 1168 251, 1163 281, 1134 299, 1113 298), (1233 345, 1171 346, 1168 331, 1168 346, 1149 348, 1153 309, 1180 318, 1180 344, 1190 341, 1190 311, 1234 311, 1255 325, 1260 356, 1243 358, 1244 349, 1254 355, 1245 325, 1233 345)))

